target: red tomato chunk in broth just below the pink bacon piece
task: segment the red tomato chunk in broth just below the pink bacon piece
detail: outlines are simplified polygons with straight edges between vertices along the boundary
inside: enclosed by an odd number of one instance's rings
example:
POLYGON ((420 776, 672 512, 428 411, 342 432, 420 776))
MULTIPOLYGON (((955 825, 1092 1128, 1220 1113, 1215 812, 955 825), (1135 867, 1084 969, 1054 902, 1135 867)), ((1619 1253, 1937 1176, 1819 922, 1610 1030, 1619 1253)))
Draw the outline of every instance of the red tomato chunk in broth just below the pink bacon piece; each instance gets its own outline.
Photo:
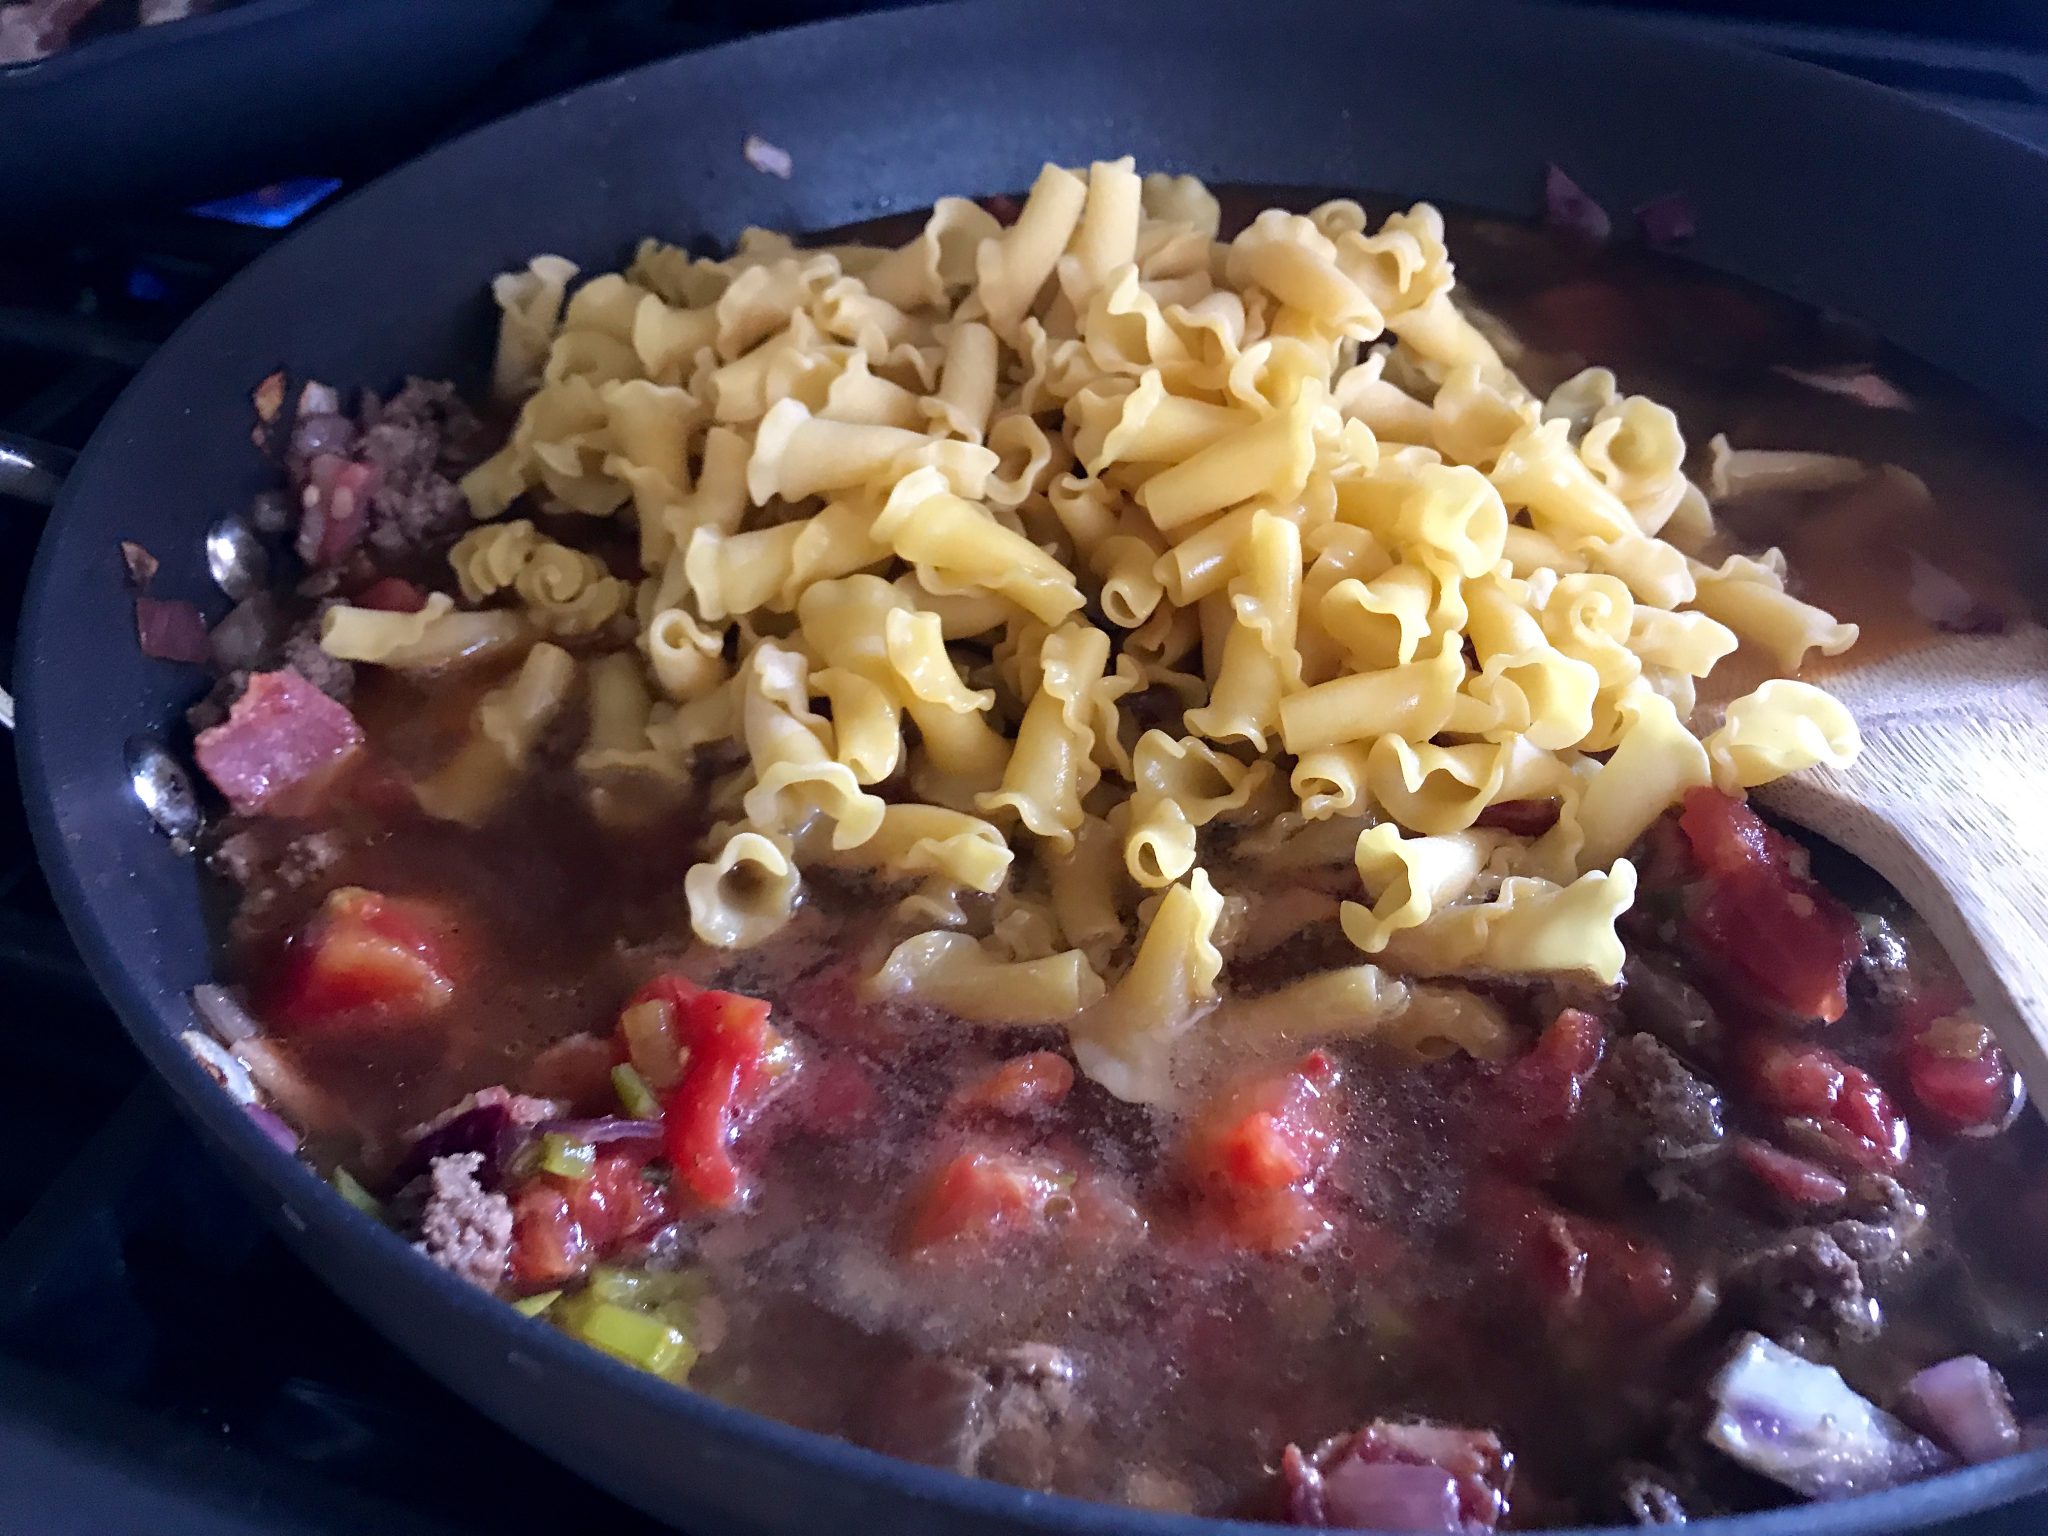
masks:
POLYGON ((426 1020, 455 1001, 451 930, 428 901, 332 891, 287 948, 266 1012, 291 1030, 426 1020))

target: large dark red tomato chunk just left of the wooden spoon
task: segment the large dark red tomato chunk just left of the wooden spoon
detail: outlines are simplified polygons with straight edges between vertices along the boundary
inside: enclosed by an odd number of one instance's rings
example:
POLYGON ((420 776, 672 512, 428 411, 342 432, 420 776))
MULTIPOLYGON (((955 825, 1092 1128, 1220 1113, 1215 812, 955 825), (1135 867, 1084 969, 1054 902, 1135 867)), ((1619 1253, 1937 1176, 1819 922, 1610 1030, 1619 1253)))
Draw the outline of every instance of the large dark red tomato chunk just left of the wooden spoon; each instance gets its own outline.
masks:
POLYGON ((1688 932, 1749 991, 1800 1018, 1833 1022, 1849 1006, 1864 952, 1855 915, 1792 864, 1792 844, 1737 799, 1686 795, 1679 825, 1708 874, 1688 932))

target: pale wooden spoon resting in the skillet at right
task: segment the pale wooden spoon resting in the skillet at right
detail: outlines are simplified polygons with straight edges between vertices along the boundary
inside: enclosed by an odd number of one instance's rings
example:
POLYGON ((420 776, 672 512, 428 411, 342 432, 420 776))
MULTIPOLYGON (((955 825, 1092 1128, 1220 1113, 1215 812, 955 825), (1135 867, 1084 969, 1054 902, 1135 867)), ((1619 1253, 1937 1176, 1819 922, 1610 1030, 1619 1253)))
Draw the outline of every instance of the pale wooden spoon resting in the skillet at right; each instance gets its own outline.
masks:
POLYGON ((1757 799, 1898 889, 2048 1114, 2048 629, 1853 655, 1819 682, 1862 756, 1757 799))

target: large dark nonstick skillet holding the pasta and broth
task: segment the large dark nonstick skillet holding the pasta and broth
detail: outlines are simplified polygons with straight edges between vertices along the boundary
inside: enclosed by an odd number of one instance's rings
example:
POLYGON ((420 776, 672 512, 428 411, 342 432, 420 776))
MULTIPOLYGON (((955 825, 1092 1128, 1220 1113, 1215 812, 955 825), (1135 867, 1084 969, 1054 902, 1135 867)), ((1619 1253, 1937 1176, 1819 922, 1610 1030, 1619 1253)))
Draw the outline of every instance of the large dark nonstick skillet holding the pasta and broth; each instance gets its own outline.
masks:
MULTIPOLYGON (((1497 0, 999 0, 782 33, 483 129, 248 268, 113 410, 43 539, 18 684, 49 883, 137 1044, 307 1264, 528 1442, 696 1530, 1223 1528, 971 1483, 674 1391, 434 1270, 279 1151, 176 1040, 211 965, 201 872, 152 831, 123 754, 168 733, 199 680, 137 653, 115 543, 139 539, 164 559, 160 590, 217 610, 199 535, 264 483, 250 385, 281 362, 344 383, 477 379, 485 279, 532 252, 608 264, 647 231, 819 229, 1122 152, 1219 182, 1522 215, 1546 160, 1616 209, 1686 188, 1698 260, 1864 315, 2048 424, 2048 160, 1812 68, 1497 0), (795 178, 752 170, 748 133, 786 147, 795 178)), ((1890 1532, 2044 1487, 2032 1454, 1704 1528, 1890 1532)))

